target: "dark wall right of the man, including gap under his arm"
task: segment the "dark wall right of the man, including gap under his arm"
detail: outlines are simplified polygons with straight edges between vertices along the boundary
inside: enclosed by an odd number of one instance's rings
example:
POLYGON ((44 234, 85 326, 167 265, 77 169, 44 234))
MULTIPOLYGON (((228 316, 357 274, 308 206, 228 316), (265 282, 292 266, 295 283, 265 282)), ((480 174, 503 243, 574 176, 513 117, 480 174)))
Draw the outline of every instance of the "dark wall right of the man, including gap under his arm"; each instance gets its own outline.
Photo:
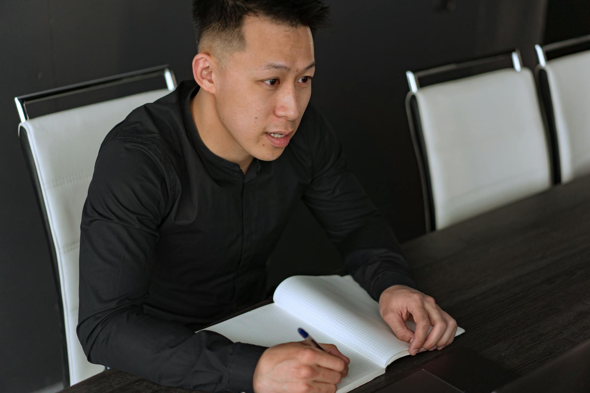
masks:
MULTIPOLYGON (((314 40, 312 103, 339 134, 360 183, 403 242, 425 232, 405 71, 515 47, 525 65, 535 67, 533 46, 543 37, 546 0, 326 3, 333 27, 314 40)), ((302 270, 339 267, 326 235, 299 206, 271 260, 270 285, 302 270), (305 246, 293 249, 293 239, 305 246)))

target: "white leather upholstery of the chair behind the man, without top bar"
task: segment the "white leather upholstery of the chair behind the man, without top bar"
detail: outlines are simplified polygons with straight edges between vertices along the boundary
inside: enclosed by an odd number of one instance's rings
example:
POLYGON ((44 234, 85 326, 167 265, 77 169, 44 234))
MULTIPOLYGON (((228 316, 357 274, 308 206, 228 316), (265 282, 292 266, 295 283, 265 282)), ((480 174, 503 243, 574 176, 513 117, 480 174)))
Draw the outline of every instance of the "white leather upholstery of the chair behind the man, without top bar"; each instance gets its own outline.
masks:
POLYGON ((57 255, 71 385, 104 370, 87 361, 76 335, 80 222, 94 162, 104 137, 117 123, 136 107, 168 93, 162 89, 130 95, 19 125, 19 133, 20 127, 27 132, 57 255))

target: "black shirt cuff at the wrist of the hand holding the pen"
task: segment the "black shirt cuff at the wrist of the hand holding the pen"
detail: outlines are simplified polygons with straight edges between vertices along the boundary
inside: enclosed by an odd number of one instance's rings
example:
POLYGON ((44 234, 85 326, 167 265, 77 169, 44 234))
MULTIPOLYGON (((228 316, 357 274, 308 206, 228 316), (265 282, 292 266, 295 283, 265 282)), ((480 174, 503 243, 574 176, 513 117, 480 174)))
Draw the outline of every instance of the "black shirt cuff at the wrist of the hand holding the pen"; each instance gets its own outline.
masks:
POLYGON ((253 377, 254 369, 258 364, 258 359, 264 351, 266 346, 237 343, 238 348, 234 352, 228 367, 228 379, 225 385, 225 390, 230 392, 254 392, 253 377))

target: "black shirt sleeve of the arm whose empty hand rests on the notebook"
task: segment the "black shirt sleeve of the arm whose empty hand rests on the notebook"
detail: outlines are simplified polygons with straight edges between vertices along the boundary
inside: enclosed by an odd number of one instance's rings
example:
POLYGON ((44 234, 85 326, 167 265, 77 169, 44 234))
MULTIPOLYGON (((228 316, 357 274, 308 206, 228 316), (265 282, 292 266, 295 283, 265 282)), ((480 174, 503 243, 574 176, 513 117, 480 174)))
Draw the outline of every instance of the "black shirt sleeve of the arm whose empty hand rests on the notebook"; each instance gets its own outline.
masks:
POLYGON ((391 227, 347 166, 332 127, 322 114, 314 115, 313 177, 303 202, 335 243, 348 272, 373 299, 392 285, 414 287, 391 227))

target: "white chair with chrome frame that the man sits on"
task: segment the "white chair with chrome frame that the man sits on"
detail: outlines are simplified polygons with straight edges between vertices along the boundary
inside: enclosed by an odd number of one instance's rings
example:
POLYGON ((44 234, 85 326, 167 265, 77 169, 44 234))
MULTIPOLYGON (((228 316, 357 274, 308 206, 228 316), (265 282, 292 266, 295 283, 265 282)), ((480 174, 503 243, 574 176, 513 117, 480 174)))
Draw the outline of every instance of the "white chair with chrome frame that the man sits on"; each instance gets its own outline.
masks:
POLYGON ((81 214, 100 144, 133 109, 175 87, 172 71, 160 66, 15 98, 22 121, 19 140, 37 194, 61 300, 64 387, 104 370, 104 366, 87 361, 76 335, 81 214), (32 101, 156 76, 165 77, 167 88, 28 117, 26 104, 32 101))

